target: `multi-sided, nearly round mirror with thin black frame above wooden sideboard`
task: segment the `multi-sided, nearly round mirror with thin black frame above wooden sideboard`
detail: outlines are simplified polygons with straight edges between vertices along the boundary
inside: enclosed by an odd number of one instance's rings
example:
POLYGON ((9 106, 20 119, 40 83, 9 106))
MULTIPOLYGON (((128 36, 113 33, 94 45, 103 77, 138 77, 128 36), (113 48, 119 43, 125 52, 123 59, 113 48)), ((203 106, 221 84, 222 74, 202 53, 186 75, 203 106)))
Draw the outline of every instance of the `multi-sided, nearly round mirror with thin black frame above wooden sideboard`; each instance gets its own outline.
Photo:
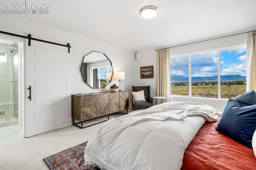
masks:
POLYGON ((84 56, 80 70, 84 82, 93 89, 106 87, 113 74, 110 59, 104 53, 97 51, 92 51, 84 56))

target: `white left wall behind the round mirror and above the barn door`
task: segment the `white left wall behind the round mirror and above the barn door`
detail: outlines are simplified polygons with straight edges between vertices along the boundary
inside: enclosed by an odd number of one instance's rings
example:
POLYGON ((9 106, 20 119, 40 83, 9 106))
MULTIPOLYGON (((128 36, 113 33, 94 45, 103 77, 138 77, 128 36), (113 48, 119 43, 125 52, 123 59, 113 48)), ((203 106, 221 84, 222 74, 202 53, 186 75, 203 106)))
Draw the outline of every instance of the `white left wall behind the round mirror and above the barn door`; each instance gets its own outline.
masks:
MULTIPOLYGON (((22 36, 32 35, 32 38, 38 38, 46 41, 66 44, 70 43, 70 54, 72 62, 68 63, 68 67, 72 68, 70 81, 72 82, 71 93, 87 93, 87 92, 102 92, 109 91, 110 85, 116 83, 119 85, 118 80, 114 80, 104 89, 92 89, 86 83, 83 82, 80 72, 80 66, 84 55, 91 51, 98 51, 105 53, 105 55, 112 61, 114 71, 125 71, 125 79, 122 80, 122 90, 131 91, 133 85, 133 69, 134 53, 120 47, 112 46, 108 43, 84 38, 61 30, 56 30, 47 26, 28 22, 8 15, 0 16, 0 30, 4 32, 10 32, 13 34, 19 34, 22 36)), ((0 34, 0 38, 6 39, 8 37, 13 39, 13 36, 0 34)), ((68 51, 67 47, 66 48, 68 51)), ((71 103, 70 103, 71 105, 71 103)))

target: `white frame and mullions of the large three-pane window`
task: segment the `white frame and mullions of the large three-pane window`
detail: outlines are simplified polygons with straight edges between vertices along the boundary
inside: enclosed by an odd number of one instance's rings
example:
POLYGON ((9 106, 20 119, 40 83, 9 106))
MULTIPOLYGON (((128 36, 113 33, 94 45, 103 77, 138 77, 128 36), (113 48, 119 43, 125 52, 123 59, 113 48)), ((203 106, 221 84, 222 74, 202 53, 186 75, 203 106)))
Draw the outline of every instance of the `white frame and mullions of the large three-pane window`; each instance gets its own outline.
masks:
MULTIPOLYGON (((227 98, 221 98, 221 82, 220 82, 220 51, 226 51, 226 50, 232 50, 232 49, 239 49, 239 48, 246 48, 246 55, 247 55, 247 46, 246 44, 243 45, 235 45, 235 46, 230 46, 230 47, 222 47, 222 48, 216 48, 216 49, 209 49, 209 50, 204 50, 204 51, 196 51, 196 52, 191 52, 191 53, 183 53, 183 54, 178 54, 178 55, 170 55, 171 58, 175 57, 185 57, 188 56, 188 96, 183 96, 183 95, 172 95, 171 97, 190 97, 190 98, 202 98, 202 99, 227 99, 227 98), (191 76, 191 55, 195 54, 200 54, 200 53, 209 53, 209 52, 214 52, 217 51, 218 53, 218 98, 209 98, 209 97, 194 97, 192 96, 192 76, 191 76)), ((246 72, 247 72, 247 64, 246 64, 246 72)), ((170 73, 171 75, 171 73, 170 73)), ((247 75, 247 73, 246 73, 247 75)), ((246 76, 246 81, 247 81, 247 76, 246 76)), ((170 82, 170 88, 171 88, 171 82, 170 82)), ((247 91, 247 86, 246 86, 246 91, 247 91)), ((171 91, 171 90, 170 90, 171 91)))

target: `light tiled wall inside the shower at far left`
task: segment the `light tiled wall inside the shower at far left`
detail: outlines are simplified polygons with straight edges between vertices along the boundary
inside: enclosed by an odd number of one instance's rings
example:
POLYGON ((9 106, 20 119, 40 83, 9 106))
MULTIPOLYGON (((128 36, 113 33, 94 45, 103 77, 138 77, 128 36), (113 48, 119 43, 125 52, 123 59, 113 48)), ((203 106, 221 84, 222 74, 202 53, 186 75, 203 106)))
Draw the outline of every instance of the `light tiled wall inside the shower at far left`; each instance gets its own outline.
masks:
POLYGON ((2 103, 2 106, 0 107, 0 111, 5 111, 5 115, 3 115, 4 119, 4 117, 14 115, 13 87, 11 84, 13 77, 13 57, 8 49, 2 49, 2 52, 6 53, 6 62, 2 62, 2 73, 0 73, 2 76, 2 87, 0 88, 0 103, 2 103))

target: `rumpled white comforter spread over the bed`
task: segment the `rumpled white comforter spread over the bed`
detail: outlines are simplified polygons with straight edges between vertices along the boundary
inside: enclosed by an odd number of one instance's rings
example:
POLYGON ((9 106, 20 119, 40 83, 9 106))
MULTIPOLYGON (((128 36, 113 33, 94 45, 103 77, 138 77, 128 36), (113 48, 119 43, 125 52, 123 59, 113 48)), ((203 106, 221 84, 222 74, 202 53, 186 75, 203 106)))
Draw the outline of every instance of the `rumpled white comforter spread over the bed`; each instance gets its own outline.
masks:
POLYGON ((188 144, 220 113, 202 103, 168 102, 110 119, 88 141, 84 162, 107 170, 180 170, 188 144))

